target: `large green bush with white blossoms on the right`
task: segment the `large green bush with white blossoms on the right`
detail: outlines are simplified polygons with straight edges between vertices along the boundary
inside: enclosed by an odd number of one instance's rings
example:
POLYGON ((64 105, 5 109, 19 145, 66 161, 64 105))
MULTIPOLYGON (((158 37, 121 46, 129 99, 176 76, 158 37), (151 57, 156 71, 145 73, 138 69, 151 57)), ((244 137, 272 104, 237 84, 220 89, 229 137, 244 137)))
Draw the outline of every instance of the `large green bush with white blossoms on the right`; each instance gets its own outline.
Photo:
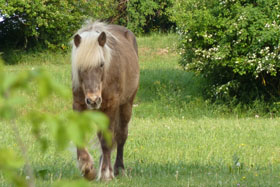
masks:
POLYGON ((180 64, 209 80, 207 96, 279 100, 280 2, 184 0, 170 11, 180 40, 180 64))

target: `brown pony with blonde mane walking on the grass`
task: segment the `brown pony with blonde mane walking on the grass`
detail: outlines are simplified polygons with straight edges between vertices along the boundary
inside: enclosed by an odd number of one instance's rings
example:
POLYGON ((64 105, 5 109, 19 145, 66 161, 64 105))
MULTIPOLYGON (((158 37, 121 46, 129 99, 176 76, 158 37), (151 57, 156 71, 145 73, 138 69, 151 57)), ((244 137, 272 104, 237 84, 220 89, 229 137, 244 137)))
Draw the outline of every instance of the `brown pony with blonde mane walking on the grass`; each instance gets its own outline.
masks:
MULTIPOLYGON (((123 149, 128 122, 139 84, 138 49, 134 34, 125 27, 102 22, 88 23, 73 39, 73 109, 99 110, 110 119, 112 144, 117 146, 114 172, 112 147, 101 133, 102 156, 98 180, 111 180, 124 172, 123 149)), ((77 148, 79 168, 85 178, 96 178, 93 160, 86 148, 77 148)))

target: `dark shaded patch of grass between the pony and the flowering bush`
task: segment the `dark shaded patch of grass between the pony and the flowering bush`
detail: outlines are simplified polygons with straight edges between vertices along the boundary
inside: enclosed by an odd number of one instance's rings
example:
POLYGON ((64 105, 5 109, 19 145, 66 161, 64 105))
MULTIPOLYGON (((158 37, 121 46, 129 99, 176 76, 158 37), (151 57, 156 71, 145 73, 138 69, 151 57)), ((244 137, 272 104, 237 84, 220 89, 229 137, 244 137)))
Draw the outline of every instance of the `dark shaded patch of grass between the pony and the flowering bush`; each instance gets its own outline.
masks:
POLYGON ((202 79, 178 69, 146 69, 140 74, 139 102, 159 101, 162 96, 183 99, 202 96, 202 79))

